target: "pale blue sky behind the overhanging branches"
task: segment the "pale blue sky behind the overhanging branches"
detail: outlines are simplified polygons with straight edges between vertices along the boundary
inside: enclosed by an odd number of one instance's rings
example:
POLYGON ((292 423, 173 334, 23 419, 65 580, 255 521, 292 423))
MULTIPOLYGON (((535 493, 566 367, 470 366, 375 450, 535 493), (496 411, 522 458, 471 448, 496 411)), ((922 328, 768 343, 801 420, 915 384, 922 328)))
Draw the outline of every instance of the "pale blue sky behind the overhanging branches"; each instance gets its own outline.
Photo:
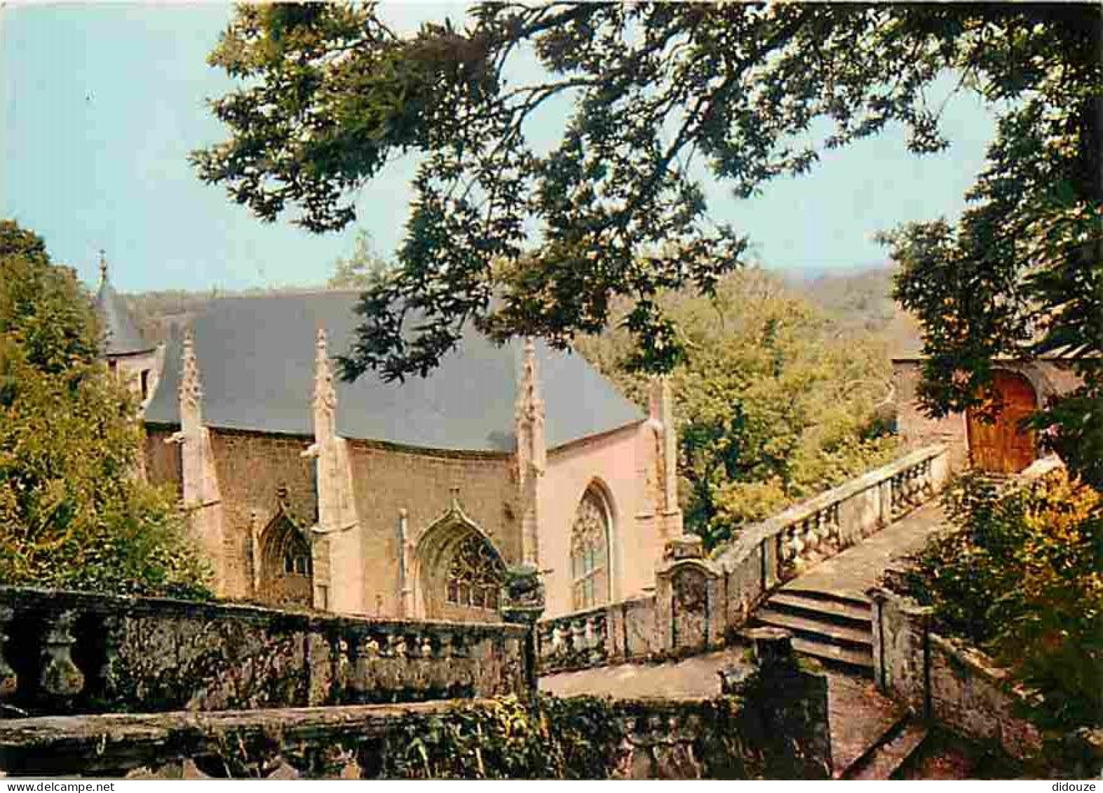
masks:
MULTIPOLYGON (((453 18, 459 3, 385 6, 396 26, 453 18)), ((97 276, 107 250, 124 291, 320 283, 352 248, 355 228, 312 235, 263 224, 206 186, 188 152, 222 140, 204 97, 228 87, 206 65, 231 15, 224 4, 0 8, 0 217, 46 239, 55 260, 97 276)), ((751 236, 763 264, 786 269, 876 265, 872 234, 955 217, 993 132, 971 96, 947 106, 949 151, 918 158, 892 130, 827 152, 813 173, 750 201, 708 189, 713 215, 751 236)), ((358 226, 389 254, 403 234, 409 163, 358 200, 358 226)))

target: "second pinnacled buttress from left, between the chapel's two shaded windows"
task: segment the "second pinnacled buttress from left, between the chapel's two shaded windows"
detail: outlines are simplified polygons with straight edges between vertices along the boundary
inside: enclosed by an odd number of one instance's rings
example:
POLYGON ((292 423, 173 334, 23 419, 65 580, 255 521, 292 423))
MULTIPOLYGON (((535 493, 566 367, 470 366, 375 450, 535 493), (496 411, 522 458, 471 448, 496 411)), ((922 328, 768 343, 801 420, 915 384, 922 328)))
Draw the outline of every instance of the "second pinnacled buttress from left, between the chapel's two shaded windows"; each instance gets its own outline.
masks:
MULTIPOLYGON (((349 471, 349 450, 336 432, 338 395, 325 329, 318 330, 314 358, 314 443, 318 480, 315 545, 325 557, 314 565, 314 608, 367 613, 363 549, 349 471), (318 542, 319 539, 322 542, 318 542), (321 574, 321 575, 319 575, 321 574)), ((317 556, 317 554, 315 554, 317 556)))

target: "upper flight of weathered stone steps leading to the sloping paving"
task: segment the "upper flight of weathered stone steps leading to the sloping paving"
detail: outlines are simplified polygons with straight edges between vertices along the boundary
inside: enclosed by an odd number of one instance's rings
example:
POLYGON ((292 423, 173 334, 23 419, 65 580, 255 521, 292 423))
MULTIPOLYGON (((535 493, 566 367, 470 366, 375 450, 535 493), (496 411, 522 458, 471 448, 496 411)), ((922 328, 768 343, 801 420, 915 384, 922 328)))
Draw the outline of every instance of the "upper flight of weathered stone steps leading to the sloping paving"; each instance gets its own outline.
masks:
POLYGON ((754 623, 784 628, 793 649, 826 666, 872 677, 872 604, 865 598, 779 589, 754 612, 754 623))

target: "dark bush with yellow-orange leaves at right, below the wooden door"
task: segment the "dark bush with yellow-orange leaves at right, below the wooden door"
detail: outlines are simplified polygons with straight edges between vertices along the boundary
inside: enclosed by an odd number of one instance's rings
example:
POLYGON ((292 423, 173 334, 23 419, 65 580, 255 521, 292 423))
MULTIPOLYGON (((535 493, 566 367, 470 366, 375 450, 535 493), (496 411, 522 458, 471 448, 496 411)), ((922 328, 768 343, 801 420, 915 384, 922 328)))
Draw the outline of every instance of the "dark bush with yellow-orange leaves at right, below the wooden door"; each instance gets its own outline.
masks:
POLYGON ((1062 471, 997 493, 964 479, 947 494, 956 531, 890 585, 992 652, 1045 695, 1063 727, 1103 724, 1103 499, 1062 471))

